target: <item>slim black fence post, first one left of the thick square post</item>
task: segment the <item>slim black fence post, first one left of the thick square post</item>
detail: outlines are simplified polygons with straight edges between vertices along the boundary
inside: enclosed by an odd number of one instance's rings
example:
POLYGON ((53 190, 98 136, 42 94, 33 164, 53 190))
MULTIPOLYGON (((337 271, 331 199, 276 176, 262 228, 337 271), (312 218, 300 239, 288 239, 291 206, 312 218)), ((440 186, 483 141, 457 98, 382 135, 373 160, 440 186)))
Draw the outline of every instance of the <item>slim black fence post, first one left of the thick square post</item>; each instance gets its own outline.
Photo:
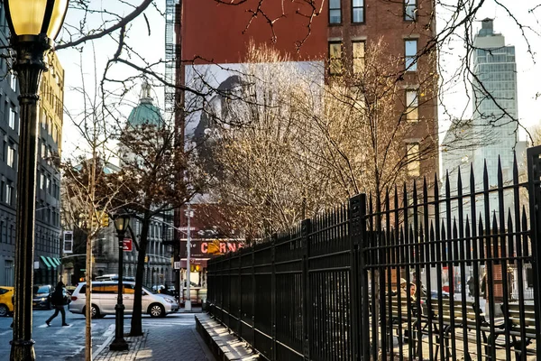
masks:
POLYGON ((302 348, 305 360, 310 359, 310 332, 311 325, 311 308, 308 292, 308 255, 309 255, 309 235, 312 232, 312 221, 305 219, 301 224, 301 238, 302 238, 302 348))

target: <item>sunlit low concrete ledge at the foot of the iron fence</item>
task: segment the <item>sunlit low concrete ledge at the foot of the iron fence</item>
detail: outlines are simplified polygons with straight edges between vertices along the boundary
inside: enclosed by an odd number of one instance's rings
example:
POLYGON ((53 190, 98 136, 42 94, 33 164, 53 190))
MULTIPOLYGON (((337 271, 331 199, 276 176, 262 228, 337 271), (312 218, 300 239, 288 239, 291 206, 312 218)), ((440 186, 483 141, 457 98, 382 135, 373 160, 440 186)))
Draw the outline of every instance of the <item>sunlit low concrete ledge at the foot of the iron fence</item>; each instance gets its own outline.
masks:
POLYGON ((195 315, 196 329, 219 361, 256 361, 257 354, 242 339, 229 333, 221 323, 206 313, 195 315))

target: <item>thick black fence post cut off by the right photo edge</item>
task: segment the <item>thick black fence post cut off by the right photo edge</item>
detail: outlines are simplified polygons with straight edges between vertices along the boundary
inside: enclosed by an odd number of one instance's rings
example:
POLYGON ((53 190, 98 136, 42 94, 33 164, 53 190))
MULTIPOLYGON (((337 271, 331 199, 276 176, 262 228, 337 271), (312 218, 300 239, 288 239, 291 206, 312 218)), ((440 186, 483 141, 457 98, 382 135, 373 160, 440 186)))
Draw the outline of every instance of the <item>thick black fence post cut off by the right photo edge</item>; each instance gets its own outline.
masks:
MULTIPOLYGON (((541 146, 527 149, 527 188, 530 211, 530 239, 534 269, 534 299, 536 310, 536 345, 541 344, 541 146)), ((523 231, 526 229, 523 229, 523 231)))

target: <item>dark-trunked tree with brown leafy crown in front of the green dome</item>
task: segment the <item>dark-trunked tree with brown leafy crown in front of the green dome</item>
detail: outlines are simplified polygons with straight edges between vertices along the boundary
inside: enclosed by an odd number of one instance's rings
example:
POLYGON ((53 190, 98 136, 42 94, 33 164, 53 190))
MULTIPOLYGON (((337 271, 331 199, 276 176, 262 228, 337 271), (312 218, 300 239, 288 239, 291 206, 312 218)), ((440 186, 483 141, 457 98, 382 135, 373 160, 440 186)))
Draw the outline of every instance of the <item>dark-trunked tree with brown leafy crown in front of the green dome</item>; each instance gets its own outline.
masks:
POLYGON ((151 219, 180 208, 200 189, 189 153, 176 152, 175 132, 156 115, 156 122, 128 124, 119 135, 121 170, 112 176, 120 191, 115 204, 141 224, 135 273, 132 336, 142 335, 142 282, 151 219), (189 171, 188 171, 189 170, 189 171))

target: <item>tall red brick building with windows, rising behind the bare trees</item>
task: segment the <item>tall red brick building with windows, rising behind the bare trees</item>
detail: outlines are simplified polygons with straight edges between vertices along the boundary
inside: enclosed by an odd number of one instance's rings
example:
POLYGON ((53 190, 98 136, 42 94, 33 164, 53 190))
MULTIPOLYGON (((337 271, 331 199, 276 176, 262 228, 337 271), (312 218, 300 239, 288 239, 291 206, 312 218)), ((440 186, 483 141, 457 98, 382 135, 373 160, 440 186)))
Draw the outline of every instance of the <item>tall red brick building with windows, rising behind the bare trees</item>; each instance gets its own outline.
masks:
MULTIPOLYGON (((267 44, 293 61, 320 63, 329 81, 355 73, 371 44, 383 42, 389 56, 399 59, 399 68, 392 70, 398 74, 402 97, 396 102, 397 114, 410 124, 408 134, 399 140, 400 146, 408 163, 412 150, 412 154, 419 154, 424 147, 432 154, 423 159, 418 155, 419 159, 408 165, 408 176, 430 175, 428 179, 433 179, 438 169, 436 60, 428 49, 436 32, 433 1, 316 0, 314 7, 308 3, 265 0, 258 7, 259 0, 240 5, 217 4, 215 0, 180 1, 176 49, 182 62, 177 67, 177 83, 189 86, 193 69, 200 73, 206 66, 215 71, 211 77, 215 88, 234 82, 231 73, 221 72, 238 69, 235 66, 246 61, 251 43, 267 44), (421 73, 434 79, 431 97, 426 97, 419 84, 421 73)), ((184 96, 177 93, 177 102, 188 107, 190 95, 186 93, 186 101, 184 96)), ((215 100, 208 99, 207 104, 215 100)), ((197 135, 201 128, 190 125, 194 119, 189 109, 188 114, 176 114, 178 129, 187 138, 197 135)), ((179 226, 182 222, 176 223, 179 226)))

